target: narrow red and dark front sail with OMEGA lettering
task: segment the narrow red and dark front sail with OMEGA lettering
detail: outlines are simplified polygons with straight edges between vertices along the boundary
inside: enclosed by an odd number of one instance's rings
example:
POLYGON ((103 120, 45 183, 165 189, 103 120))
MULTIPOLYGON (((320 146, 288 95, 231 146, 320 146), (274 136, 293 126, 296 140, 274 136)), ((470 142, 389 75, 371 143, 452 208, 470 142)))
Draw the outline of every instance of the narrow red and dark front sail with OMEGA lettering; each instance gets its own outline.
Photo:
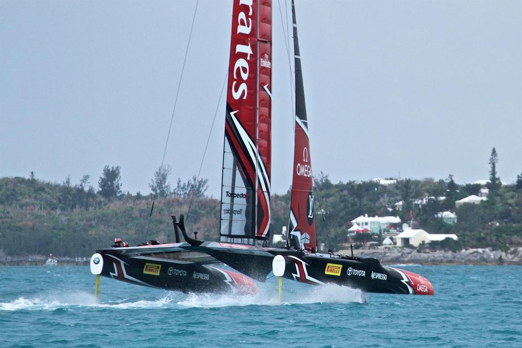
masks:
POLYGON ((292 175, 292 198, 290 201, 289 240, 291 246, 299 249, 315 248, 314 192, 312 177, 312 157, 304 100, 303 73, 295 7, 292 0, 292 23, 295 63, 295 141, 292 175))

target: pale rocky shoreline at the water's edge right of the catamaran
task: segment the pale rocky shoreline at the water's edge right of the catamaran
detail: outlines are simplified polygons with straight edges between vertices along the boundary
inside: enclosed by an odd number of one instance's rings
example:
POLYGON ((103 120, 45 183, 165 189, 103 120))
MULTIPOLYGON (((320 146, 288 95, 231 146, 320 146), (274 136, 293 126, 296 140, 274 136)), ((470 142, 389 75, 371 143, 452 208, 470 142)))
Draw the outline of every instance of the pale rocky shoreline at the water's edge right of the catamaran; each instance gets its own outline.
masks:
MULTIPOLYGON (((350 255, 350 250, 339 254, 350 255)), ((409 248, 358 249, 354 256, 374 257, 384 265, 417 263, 419 265, 522 265, 522 247, 509 248, 507 252, 492 248, 462 249, 453 251, 422 251, 409 248)))

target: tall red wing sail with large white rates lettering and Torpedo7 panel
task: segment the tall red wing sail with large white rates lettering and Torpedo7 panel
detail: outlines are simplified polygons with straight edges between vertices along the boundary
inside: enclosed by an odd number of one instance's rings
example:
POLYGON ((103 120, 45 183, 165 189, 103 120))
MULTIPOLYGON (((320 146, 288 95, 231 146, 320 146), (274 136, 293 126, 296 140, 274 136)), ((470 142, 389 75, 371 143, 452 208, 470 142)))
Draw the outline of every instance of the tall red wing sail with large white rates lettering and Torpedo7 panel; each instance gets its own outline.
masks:
POLYGON ((255 244, 270 225, 271 1, 234 0, 221 241, 255 244))

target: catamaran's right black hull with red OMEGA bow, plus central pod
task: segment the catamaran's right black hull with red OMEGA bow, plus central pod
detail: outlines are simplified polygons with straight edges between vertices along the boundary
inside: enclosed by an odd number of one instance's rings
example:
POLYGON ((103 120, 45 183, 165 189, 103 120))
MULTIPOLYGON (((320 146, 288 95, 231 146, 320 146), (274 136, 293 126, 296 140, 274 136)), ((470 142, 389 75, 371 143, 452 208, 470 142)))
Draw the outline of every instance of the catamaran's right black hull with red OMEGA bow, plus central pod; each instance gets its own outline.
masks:
POLYGON ((183 246, 215 257, 235 270, 264 281, 276 255, 283 256, 283 277, 303 283, 335 283, 365 292, 433 295, 431 282, 422 275, 382 266, 377 259, 347 257, 306 251, 264 248, 219 242, 183 246))

